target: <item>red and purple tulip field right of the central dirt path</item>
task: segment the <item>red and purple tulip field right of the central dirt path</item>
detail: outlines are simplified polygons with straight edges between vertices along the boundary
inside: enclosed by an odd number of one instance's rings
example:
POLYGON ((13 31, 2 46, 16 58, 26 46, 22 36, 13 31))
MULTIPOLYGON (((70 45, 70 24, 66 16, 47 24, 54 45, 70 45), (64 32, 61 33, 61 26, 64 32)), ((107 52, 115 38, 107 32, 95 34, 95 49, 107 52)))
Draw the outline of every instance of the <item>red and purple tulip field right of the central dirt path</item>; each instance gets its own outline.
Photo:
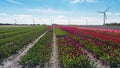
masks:
MULTIPOLYGON (((63 33, 58 33, 58 51, 60 62, 66 68, 91 68, 87 53, 93 58, 112 68, 120 67, 120 34, 119 30, 103 30, 85 27, 59 26, 63 33), (63 35, 64 34, 64 35, 63 35), (61 58, 62 57, 62 58, 61 58), (82 61, 83 60, 83 61, 82 61)), ((59 29, 57 29, 59 30, 59 29)), ((59 32, 59 31, 58 31, 59 32)))

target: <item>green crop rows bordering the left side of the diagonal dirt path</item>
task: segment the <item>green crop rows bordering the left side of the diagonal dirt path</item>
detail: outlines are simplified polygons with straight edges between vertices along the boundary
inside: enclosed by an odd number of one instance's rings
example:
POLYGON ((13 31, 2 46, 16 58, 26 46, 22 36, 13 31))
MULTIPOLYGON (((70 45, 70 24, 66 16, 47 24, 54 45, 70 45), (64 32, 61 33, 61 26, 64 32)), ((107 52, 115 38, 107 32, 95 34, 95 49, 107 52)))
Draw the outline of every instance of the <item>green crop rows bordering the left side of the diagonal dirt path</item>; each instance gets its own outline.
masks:
POLYGON ((33 30, 0 40, 0 61, 3 61, 5 58, 14 53, 17 53, 21 48, 35 40, 47 30, 47 27, 39 26, 33 28, 31 27, 31 29, 33 30))

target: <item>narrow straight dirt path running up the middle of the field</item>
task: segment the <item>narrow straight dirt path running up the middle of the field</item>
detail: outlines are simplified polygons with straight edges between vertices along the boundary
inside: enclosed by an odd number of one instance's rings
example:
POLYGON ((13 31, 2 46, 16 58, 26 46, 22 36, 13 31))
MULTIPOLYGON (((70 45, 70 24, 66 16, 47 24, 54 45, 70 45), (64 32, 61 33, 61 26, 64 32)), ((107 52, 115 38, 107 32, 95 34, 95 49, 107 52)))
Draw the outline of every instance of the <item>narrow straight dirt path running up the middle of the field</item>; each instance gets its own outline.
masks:
POLYGON ((51 59, 50 59, 49 68, 60 68, 59 65, 58 65, 58 59, 57 59, 56 35, 55 35, 54 30, 53 30, 52 53, 51 53, 51 59))

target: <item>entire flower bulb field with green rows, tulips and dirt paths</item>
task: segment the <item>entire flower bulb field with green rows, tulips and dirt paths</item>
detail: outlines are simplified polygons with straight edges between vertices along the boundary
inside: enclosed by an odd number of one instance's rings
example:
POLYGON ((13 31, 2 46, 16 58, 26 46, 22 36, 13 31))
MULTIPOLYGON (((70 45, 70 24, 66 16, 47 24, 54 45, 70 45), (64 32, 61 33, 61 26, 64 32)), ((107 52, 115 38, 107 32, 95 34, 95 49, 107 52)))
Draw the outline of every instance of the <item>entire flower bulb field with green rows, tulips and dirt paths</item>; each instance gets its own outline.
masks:
POLYGON ((0 27, 0 68, 120 68, 120 30, 0 27))

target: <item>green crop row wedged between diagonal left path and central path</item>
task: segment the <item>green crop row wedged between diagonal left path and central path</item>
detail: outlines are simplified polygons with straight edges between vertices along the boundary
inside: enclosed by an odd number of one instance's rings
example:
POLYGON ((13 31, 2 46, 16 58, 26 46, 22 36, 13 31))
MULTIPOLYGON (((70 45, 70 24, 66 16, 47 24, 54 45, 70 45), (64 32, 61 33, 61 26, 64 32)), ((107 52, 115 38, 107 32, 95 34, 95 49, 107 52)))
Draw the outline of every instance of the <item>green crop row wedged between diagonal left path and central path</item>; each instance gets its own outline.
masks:
POLYGON ((44 65, 49 62, 52 51, 53 32, 48 31, 28 52, 22 57, 20 63, 25 66, 44 65))

